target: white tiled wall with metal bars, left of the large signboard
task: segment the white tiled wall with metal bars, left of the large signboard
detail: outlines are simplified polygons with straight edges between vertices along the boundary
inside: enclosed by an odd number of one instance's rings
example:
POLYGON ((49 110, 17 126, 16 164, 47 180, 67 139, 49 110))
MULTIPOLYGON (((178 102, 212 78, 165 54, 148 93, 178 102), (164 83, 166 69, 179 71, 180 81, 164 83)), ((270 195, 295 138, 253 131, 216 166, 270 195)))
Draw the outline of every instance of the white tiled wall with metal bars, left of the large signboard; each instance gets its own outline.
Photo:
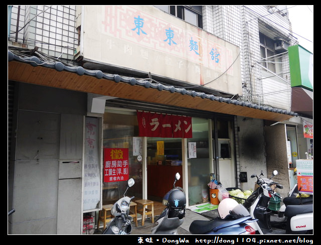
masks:
POLYGON ((30 49, 37 46, 50 56, 73 59, 78 46, 75 6, 20 6, 20 10, 13 6, 10 40, 27 44, 30 49))

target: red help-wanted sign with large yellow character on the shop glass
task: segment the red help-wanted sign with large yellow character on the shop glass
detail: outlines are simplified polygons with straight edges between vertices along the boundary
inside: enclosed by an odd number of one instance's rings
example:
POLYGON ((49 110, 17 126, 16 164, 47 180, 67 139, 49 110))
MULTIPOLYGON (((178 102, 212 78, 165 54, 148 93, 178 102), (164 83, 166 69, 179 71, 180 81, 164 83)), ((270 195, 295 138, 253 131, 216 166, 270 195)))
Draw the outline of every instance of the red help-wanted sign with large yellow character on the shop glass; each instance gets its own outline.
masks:
POLYGON ((128 180, 128 148, 104 148, 104 182, 128 180))

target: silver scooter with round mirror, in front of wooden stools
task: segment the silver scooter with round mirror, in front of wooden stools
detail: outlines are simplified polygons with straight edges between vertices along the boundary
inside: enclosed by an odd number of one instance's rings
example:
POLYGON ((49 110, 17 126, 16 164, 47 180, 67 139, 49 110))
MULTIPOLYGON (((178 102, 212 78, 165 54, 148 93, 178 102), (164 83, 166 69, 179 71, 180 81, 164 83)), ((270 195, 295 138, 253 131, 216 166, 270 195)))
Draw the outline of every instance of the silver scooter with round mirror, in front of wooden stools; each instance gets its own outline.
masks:
POLYGON ((134 197, 125 196, 128 188, 133 186, 135 181, 130 178, 127 181, 127 188, 124 192, 124 196, 114 203, 111 208, 111 215, 114 216, 107 224, 107 227, 102 234, 130 234, 131 216, 129 215, 130 202, 134 197))

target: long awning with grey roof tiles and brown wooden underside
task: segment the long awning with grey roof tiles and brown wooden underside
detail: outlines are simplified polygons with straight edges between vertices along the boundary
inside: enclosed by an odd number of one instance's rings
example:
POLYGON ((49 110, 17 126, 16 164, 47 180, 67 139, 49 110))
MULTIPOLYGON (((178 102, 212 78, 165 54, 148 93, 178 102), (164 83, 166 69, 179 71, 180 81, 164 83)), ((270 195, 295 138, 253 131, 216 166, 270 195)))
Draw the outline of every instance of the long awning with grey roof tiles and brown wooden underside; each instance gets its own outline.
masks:
POLYGON ((161 103, 169 106, 273 121, 284 121, 297 115, 288 110, 166 86, 152 83, 148 80, 105 74, 100 70, 86 70, 81 66, 64 65, 59 61, 43 62, 36 56, 20 58, 10 50, 8 51, 8 79, 149 103, 161 103))

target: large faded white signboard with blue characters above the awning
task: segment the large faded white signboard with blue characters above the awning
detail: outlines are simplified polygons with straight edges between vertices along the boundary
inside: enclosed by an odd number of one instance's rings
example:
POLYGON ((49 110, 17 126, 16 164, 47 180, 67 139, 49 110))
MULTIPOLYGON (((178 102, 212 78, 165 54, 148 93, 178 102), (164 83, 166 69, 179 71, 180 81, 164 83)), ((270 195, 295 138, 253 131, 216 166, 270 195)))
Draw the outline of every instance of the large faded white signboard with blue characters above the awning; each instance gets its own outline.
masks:
POLYGON ((84 6, 86 59, 242 94, 240 49, 153 6, 84 6))

